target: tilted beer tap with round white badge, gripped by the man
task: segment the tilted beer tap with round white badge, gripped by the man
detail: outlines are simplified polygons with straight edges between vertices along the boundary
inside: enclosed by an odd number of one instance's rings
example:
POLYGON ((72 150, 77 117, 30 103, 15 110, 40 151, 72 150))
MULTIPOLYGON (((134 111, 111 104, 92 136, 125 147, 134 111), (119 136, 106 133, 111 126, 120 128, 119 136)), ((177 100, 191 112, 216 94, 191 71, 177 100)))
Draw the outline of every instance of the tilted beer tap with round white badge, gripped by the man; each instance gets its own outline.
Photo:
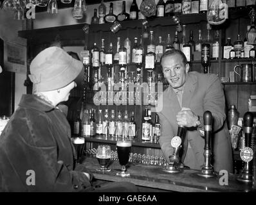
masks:
POLYGON ((167 166, 163 169, 164 171, 178 173, 184 168, 184 165, 181 162, 181 156, 183 154, 185 136, 186 127, 179 126, 177 136, 174 136, 171 141, 171 145, 174 147, 174 152, 169 156, 169 163, 167 163, 167 166))

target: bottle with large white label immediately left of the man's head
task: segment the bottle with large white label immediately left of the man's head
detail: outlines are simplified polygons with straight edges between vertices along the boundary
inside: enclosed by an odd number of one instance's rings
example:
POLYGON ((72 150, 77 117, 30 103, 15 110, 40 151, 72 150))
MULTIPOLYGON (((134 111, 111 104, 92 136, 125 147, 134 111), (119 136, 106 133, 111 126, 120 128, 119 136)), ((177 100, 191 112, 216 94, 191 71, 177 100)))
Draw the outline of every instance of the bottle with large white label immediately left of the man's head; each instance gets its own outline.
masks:
POLYGON ((149 72, 154 70, 156 61, 156 45, 154 44, 154 31, 150 31, 149 45, 147 45, 147 54, 145 56, 145 69, 149 72))

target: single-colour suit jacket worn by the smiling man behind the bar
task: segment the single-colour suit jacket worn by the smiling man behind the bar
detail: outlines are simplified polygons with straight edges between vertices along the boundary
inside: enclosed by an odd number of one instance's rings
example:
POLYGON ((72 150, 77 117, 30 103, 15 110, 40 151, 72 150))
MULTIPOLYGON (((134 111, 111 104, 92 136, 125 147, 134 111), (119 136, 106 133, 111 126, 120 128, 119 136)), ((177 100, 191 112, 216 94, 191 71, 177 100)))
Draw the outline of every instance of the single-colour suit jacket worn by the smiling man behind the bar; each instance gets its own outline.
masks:
MULTIPOLYGON (((212 112, 214 119, 212 125, 212 164, 217 172, 219 170, 232 172, 232 147, 225 121, 224 92, 219 78, 215 74, 188 72, 183 90, 182 107, 190 108, 196 115, 199 115, 202 124, 203 113, 206 110, 212 112)), ((177 135, 178 131, 176 115, 181 111, 178 98, 171 86, 158 99, 156 111, 160 117, 162 129, 160 136, 161 150, 165 154, 165 158, 169 160, 169 156, 173 153, 170 141, 173 136, 177 135)), ((205 140, 196 127, 187 129, 182 161, 187 157, 188 141, 196 157, 196 167, 201 167, 204 163, 205 140)), ((190 167, 191 165, 188 163, 187 166, 190 167)))

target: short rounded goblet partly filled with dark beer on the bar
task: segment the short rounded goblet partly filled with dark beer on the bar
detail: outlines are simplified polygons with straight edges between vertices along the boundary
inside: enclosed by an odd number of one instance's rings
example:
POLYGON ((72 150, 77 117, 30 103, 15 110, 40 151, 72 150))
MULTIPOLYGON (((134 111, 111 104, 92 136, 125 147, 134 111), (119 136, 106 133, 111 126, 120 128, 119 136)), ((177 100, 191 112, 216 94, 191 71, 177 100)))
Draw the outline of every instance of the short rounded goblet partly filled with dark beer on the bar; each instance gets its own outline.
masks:
POLYGON ((107 168, 109 161, 111 159, 111 148, 109 145, 98 145, 96 158, 100 164, 100 168, 97 168, 97 171, 109 172, 110 169, 107 168))

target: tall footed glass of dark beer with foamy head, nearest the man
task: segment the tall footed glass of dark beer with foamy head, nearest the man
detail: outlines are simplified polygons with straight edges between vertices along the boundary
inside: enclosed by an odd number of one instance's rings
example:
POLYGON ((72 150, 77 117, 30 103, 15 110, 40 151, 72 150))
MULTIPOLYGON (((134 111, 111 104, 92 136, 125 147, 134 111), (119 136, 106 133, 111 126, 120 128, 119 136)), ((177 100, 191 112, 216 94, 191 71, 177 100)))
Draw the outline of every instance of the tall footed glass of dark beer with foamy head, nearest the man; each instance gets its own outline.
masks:
POLYGON ((116 149, 118 154, 118 160, 122 166, 122 172, 117 172, 117 176, 127 177, 130 174, 126 171, 125 165, 129 161, 129 154, 131 152, 132 142, 127 138, 119 138, 116 142, 116 149))

